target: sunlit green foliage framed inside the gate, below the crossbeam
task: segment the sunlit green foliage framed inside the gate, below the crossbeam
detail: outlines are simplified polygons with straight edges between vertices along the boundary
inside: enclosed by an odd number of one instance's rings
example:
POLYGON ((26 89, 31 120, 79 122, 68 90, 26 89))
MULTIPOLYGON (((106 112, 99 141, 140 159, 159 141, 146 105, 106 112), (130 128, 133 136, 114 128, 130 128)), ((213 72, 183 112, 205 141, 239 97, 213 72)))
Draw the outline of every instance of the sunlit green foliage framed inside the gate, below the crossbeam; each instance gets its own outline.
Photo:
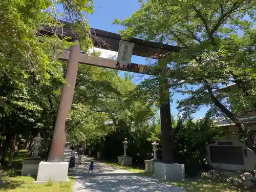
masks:
POLYGON ((156 114, 131 95, 136 86, 116 70, 80 65, 69 122, 73 143, 105 136, 116 129, 140 129, 156 114))

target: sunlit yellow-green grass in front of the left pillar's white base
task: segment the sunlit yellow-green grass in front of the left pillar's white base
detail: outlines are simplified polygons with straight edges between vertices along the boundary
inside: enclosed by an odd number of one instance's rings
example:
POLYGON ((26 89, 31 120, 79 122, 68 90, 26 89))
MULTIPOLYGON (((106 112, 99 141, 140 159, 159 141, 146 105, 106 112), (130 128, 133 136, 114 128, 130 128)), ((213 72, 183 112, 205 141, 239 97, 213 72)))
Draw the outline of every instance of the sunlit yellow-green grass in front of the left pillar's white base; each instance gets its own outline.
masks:
POLYGON ((73 180, 70 182, 53 183, 51 181, 45 184, 33 184, 32 177, 5 177, 5 182, 0 183, 0 191, 5 192, 71 192, 73 191, 73 180))

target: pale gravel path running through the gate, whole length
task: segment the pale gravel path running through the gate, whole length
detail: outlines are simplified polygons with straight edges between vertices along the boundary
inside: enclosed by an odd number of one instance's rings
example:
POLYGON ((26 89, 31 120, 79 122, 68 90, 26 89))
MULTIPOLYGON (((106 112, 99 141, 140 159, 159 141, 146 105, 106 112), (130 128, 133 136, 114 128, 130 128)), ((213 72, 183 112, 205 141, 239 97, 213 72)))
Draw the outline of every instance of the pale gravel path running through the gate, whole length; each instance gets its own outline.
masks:
MULTIPOLYGON (((70 150, 65 150, 64 159, 69 160, 70 150)), ((77 160, 77 158, 76 158, 77 160)), ((88 174, 91 158, 83 156, 81 165, 73 170, 74 192, 183 192, 181 187, 163 183, 157 179, 128 172, 100 162, 94 162, 94 173, 88 174)))

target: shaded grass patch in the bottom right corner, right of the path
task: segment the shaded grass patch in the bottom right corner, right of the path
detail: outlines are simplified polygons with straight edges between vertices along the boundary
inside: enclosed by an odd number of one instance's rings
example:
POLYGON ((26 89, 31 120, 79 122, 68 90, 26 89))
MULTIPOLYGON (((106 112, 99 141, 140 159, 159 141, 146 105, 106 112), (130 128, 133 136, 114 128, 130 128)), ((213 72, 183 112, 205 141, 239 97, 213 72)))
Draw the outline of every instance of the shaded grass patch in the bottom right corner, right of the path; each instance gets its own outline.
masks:
POLYGON ((186 179, 182 182, 171 182, 172 185, 183 187, 185 192, 249 192, 255 190, 249 190, 244 188, 238 188, 232 186, 231 184, 222 183, 219 180, 214 181, 208 178, 195 178, 195 179, 186 179))

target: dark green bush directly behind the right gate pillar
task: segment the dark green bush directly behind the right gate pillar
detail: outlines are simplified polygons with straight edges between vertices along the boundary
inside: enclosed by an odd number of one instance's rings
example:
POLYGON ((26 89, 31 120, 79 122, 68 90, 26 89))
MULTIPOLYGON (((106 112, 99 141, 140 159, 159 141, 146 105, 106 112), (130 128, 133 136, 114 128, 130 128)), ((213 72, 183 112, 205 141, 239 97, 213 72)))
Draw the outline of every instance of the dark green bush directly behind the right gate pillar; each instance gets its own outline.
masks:
MULTIPOLYGON (((151 133, 150 141, 161 141, 160 120, 155 124, 156 129, 151 133)), ((202 170, 210 167, 206 162, 205 147, 225 136, 224 130, 215 126, 207 114, 200 120, 184 119, 180 116, 175 119, 172 116, 172 127, 174 134, 174 157, 175 162, 185 165, 185 173, 195 176, 202 170)), ((161 143, 161 142, 160 142, 161 143)), ((159 145, 158 156, 161 158, 161 144, 159 145)))

